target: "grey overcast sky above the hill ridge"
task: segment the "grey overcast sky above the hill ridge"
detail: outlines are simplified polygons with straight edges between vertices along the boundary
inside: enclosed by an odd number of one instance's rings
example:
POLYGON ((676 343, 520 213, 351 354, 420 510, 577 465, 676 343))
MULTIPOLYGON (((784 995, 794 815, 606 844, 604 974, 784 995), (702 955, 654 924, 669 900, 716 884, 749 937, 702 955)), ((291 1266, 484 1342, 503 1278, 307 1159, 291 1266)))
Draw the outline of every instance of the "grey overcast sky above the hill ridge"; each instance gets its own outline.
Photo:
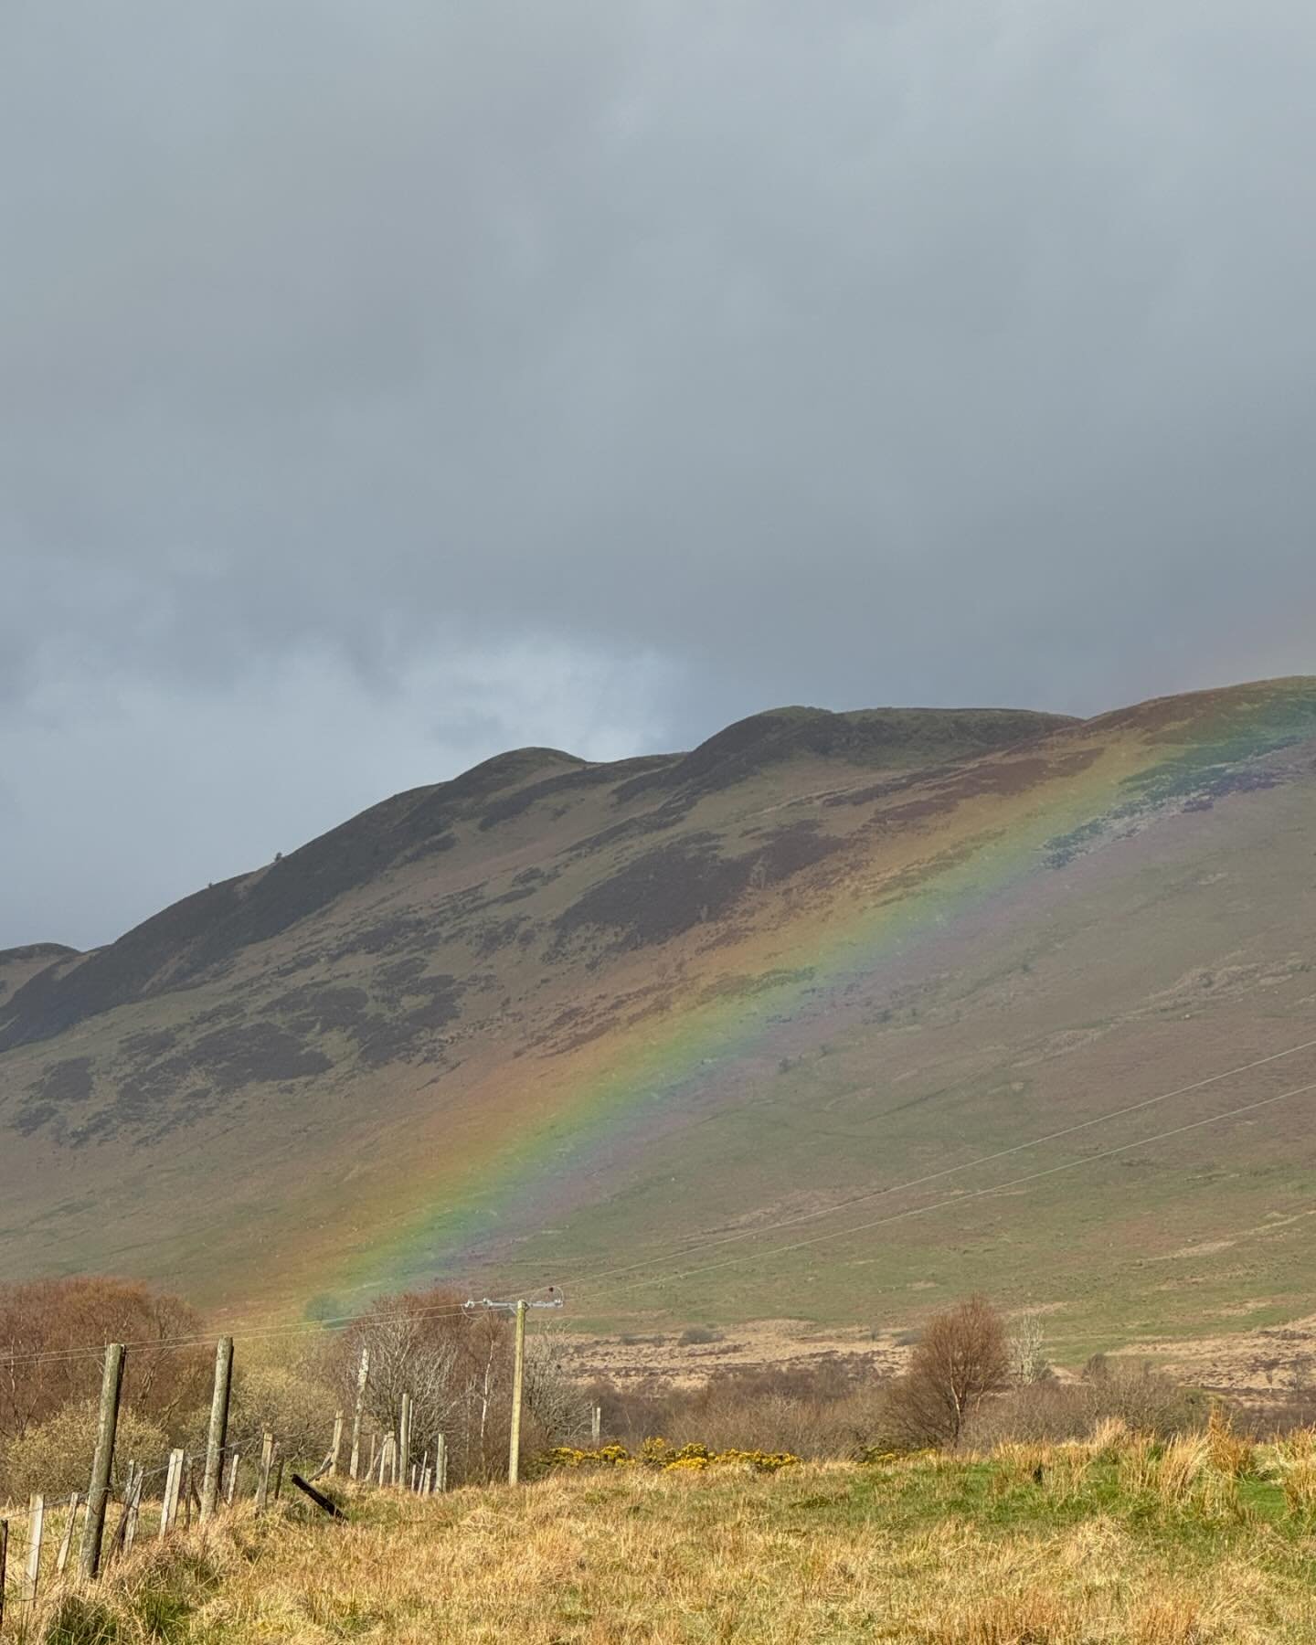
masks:
POLYGON ((1311 0, 7 0, 0 948, 505 747, 1316 671, 1311 0))

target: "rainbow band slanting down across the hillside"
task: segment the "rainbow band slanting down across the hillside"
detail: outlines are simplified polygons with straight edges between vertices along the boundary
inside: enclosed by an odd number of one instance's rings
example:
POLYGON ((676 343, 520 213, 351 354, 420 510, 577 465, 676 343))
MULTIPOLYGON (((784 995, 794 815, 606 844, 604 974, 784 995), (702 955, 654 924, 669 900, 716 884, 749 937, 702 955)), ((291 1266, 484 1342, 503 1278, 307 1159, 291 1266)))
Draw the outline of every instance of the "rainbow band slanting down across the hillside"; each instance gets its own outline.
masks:
POLYGON ((967 793, 928 827, 860 842, 844 877, 808 906, 701 952, 668 1010, 490 1074, 456 1124, 415 1137, 378 1235, 334 1277, 334 1300, 456 1278, 508 1234, 605 1196, 612 1168, 665 1117, 735 1101, 819 995, 898 969, 1054 865, 1066 846, 1178 809, 1239 765, 1313 737, 1316 681, 1293 679, 1165 699, 1007 753, 1028 780, 967 793), (711 999, 707 984, 730 969, 762 985, 711 999))

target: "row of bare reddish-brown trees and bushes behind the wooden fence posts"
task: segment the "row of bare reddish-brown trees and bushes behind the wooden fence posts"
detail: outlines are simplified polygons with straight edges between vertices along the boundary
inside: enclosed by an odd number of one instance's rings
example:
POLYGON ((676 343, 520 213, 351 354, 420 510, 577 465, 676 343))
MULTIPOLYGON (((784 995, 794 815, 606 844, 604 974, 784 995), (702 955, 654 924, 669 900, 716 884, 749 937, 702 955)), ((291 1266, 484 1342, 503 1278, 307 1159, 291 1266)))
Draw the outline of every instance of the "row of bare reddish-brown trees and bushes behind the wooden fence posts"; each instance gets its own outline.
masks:
MULTIPOLYGON (((94 1446, 100 1359, 89 1347, 133 1344, 123 1387, 120 1469, 168 1454, 199 1454, 209 1415, 214 1349, 181 1298, 130 1281, 79 1277, 0 1286, 0 1500, 31 1490, 86 1489, 94 1446), (179 1339, 197 1346, 176 1346, 179 1339)), ((380 1298, 350 1329, 240 1344, 229 1438, 255 1454, 265 1430, 283 1456, 314 1469, 336 1411, 350 1413, 364 1347, 367 1454, 372 1434, 396 1433, 401 1397, 413 1402, 413 1453, 447 1441, 449 1482, 507 1471, 513 1331, 503 1314, 461 1311, 433 1288, 380 1298)), ((526 1347, 525 1453, 589 1433, 589 1402, 566 1375, 554 1339, 526 1347)))

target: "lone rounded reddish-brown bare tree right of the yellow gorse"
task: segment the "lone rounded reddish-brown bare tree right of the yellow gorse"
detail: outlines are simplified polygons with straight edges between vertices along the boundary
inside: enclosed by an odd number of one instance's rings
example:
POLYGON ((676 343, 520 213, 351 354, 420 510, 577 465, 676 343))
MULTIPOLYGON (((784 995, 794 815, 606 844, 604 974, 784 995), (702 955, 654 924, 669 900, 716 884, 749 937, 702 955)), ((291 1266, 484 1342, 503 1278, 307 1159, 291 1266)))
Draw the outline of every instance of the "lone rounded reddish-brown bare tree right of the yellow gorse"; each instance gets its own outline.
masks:
POLYGON ((906 1444, 952 1446, 990 1393, 1010 1382, 1000 1314, 971 1296, 928 1323, 905 1377, 892 1387, 888 1421, 906 1444))

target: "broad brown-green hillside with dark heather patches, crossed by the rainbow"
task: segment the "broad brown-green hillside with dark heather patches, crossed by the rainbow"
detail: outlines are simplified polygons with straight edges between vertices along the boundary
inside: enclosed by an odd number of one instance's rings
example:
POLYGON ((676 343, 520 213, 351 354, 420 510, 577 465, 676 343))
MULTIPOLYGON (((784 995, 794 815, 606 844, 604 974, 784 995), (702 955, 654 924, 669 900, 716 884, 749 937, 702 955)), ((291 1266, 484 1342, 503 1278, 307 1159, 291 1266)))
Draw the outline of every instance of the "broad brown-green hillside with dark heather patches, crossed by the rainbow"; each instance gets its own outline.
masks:
POLYGON ((1316 1040, 1314 796, 1311 679, 498 757, 109 948, 0 954, 0 1277, 558 1281, 600 1319, 982 1285, 1076 1352, 1309 1311, 1313 1096, 1091 1156, 1316 1050, 972 1161, 1316 1040))

